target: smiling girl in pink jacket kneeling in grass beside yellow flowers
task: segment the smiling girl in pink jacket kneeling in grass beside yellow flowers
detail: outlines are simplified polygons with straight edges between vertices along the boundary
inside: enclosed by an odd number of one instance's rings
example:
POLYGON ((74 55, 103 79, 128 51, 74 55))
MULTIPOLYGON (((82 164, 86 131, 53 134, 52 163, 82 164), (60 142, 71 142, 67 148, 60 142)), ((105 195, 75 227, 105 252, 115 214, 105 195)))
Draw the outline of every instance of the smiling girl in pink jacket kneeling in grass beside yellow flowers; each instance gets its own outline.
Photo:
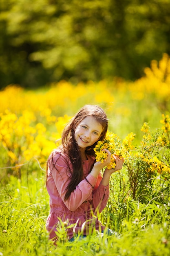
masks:
POLYGON ((62 133, 62 146, 49 156, 46 187, 50 196, 50 213, 46 229, 50 238, 57 239, 60 220, 66 222, 69 240, 81 232, 84 236, 93 229, 103 232, 97 219, 109 197, 110 175, 122 168, 124 159, 115 156, 115 169, 100 173, 110 163, 111 153, 104 163, 95 161, 94 148, 104 140, 108 128, 107 116, 99 106, 86 105, 75 115, 62 133), (73 225, 72 225, 73 224, 73 225))

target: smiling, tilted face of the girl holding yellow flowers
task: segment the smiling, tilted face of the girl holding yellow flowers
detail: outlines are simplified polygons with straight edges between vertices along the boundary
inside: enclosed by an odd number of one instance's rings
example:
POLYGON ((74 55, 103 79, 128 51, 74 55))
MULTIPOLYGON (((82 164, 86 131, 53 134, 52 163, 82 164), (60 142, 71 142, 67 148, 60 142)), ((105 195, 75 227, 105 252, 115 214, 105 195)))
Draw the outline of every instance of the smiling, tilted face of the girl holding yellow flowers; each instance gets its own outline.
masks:
POLYGON ((103 127, 93 116, 85 117, 75 129, 75 139, 83 150, 93 145, 100 137, 103 127))

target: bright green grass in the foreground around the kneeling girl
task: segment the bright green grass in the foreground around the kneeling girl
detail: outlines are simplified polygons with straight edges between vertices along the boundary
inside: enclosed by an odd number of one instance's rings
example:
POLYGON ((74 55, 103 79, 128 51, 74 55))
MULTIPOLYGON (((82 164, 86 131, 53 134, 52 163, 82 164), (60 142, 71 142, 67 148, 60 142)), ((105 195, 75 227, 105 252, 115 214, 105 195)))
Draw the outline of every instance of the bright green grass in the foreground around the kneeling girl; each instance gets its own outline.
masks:
POLYGON ((118 237, 93 234, 72 243, 61 240, 56 247, 45 229, 49 196, 44 188, 44 173, 34 172, 22 180, 11 176, 0 191, 0 255, 169 255, 168 202, 167 205, 156 201, 142 204, 128 200, 123 207, 117 197, 112 201, 114 205, 108 203, 99 218, 118 231, 118 237))

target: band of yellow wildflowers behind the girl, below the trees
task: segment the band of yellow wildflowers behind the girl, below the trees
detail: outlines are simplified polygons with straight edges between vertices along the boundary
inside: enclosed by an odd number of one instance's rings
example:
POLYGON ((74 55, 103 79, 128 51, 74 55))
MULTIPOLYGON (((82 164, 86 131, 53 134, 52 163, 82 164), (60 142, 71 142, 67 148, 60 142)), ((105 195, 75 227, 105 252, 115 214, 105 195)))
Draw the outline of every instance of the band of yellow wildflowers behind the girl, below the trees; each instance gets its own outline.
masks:
MULTIPOLYGON (((164 54, 159 63, 152 61, 151 67, 144 71, 145 76, 134 82, 115 78, 77 85, 60 81, 41 90, 24 90, 19 85, 4 88, 0 91, 0 152, 3 155, 0 168, 11 168, 11 173, 19 177, 21 167, 28 161, 35 160, 44 168, 64 125, 88 103, 97 104, 106 111, 115 154, 128 159, 134 150, 132 141, 135 137, 145 147, 152 140, 148 123, 151 128, 163 129, 166 137, 159 136, 156 142, 159 146, 167 146, 170 132, 169 56, 164 54)), ((104 159, 101 154, 97 152, 98 159, 104 159)), ((141 157, 143 153, 139 154, 139 150, 133 154, 151 163, 148 170, 161 166, 157 158, 141 157)))

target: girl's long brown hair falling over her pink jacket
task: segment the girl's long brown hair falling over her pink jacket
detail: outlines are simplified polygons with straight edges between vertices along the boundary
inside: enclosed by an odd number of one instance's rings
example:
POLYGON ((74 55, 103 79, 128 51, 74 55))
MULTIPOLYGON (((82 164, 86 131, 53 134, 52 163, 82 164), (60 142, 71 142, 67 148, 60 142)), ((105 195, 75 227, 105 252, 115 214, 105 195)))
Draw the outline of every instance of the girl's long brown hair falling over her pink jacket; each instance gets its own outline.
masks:
MULTIPOLYGON (((108 118, 104 110, 96 105, 85 105, 82 107, 79 112, 77 112, 75 117, 73 117, 64 128, 62 132, 62 146, 64 154, 66 154, 66 156, 70 159, 73 166, 71 181, 66 187, 66 194, 64 198, 65 200, 69 198, 71 192, 83 178, 82 156, 77 141, 75 140, 75 129, 77 128, 78 124, 88 116, 93 116, 96 121, 99 122, 99 124, 101 124, 103 127, 98 141, 102 141, 106 137, 106 132, 108 129, 108 118)), ((94 148, 98 141, 96 141, 92 146, 86 148, 86 154, 95 156, 94 148)), ((91 169, 92 168, 93 166, 91 169)))

